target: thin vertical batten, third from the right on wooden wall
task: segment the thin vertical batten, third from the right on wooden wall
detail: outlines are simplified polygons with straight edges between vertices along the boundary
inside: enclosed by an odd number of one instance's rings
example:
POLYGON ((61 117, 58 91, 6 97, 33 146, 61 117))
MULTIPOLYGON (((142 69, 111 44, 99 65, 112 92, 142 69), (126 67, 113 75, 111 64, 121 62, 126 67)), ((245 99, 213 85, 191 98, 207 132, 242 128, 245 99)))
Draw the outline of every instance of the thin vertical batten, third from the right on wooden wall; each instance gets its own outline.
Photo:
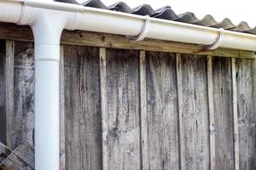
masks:
POLYGON ((181 54, 176 54, 177 69, 177 113, 178 113, 178 135, 179 135, 179 157, 180 169, 186 169, 185 161, 185 138, 183 129, 183 86, 182 86, 182 63, 181 54))

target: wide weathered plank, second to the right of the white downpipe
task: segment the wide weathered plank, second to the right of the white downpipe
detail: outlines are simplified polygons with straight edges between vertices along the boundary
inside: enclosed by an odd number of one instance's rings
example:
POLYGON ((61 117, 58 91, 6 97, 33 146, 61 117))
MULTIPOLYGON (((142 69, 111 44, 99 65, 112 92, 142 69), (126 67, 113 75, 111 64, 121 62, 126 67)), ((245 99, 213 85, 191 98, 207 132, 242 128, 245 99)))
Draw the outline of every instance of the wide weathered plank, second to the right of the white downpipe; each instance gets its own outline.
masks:
POLYGON ((141 168, 138 55, 107 50, 109 170, 141 168))

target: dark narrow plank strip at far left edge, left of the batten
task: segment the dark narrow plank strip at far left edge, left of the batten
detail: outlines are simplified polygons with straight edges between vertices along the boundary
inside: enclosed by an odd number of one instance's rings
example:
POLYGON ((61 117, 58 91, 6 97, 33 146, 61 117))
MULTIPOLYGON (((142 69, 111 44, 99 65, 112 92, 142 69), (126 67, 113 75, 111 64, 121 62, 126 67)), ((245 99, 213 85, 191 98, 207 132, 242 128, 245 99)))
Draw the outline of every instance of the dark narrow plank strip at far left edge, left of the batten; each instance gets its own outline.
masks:
POLYGON ((6 143, 6 43, 0 41, 0 142, 6 143))

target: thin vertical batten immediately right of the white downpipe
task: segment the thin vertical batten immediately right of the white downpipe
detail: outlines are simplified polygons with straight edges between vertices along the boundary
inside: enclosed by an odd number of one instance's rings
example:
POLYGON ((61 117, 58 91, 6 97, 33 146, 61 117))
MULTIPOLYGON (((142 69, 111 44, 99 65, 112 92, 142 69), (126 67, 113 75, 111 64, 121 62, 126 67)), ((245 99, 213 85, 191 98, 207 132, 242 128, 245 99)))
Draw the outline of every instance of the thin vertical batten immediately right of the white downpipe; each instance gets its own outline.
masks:
POLYGON ((65 100, 64 100, 64 46, 60 56, 60 170, 65 170, 65 100))

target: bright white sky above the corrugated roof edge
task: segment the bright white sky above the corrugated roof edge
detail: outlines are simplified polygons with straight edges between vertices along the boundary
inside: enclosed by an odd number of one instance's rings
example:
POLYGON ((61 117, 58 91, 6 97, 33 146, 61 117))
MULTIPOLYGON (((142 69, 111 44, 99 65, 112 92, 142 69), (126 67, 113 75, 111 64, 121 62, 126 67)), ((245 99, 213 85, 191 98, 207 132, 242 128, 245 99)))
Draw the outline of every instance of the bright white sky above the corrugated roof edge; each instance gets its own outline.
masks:
MULTIPOLYGON (((81 3, 86 0, 77 1, 81 3)), ((143 3, 155 9, 169 5, 176 14, 190 11, 198 18, 212 14, 217 21, 230 18, 235 25, 247 21, 249 26, 256 26, 256 0, 102 0, 102 3, 110 5, 119 1, 127 3, 131 8, 143 3)))

